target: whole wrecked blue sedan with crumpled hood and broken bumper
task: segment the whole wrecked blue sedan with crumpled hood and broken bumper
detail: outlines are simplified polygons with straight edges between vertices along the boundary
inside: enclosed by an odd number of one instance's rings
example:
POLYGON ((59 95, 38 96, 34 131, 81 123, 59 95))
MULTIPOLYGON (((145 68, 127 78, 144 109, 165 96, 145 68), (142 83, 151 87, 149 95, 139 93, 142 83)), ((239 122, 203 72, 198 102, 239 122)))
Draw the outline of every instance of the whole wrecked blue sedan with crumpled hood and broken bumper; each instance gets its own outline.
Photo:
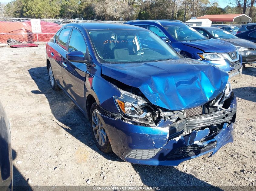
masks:
POLYGON ((102 152, 176 166, 233 142, 237 102, 228 74, 184 58, 149 30, 68 24, 46 45, 46 64, 52 89, 89 119, 102 152))

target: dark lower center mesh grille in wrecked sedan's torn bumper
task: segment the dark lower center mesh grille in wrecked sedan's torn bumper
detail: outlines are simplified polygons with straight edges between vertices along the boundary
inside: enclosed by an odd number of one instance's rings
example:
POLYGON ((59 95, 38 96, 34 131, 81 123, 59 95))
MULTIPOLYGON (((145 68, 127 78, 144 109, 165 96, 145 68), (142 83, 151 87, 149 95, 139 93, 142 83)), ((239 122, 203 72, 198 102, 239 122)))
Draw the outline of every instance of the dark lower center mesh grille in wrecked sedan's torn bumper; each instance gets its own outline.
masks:
POLYGON ((168 155, 166 156, 167 160, 173 161, 173 160, 181 160, 188 157, 197 156, 200 153, 209 151, 211 149, 214 149, 217 144, 217 141, 213 141, 208 143, 205 147, 199 147, 196 144, 188 145, 185 147, 180 147, 172 150, 168 155))

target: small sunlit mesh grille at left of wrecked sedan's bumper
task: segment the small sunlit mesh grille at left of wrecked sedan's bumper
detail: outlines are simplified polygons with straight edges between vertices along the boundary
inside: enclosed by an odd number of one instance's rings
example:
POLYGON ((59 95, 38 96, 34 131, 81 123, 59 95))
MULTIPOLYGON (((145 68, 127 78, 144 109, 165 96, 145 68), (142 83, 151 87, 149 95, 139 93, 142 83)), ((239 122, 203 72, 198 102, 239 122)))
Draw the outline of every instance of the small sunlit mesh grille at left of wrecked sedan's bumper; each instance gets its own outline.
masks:
POLYGON ((161 149, 136 149, 130 151, 126 157, 135 159, 150 159, 154 157, 161 149))

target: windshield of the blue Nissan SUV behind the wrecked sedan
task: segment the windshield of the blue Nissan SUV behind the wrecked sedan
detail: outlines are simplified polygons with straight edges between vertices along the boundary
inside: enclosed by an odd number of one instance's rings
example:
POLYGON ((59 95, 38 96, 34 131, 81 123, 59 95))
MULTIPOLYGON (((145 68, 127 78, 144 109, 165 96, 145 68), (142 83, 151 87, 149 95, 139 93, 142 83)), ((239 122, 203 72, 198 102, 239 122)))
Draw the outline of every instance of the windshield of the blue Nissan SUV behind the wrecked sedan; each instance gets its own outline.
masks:
POLYGON ((207 40, 208 38, 198 33, 188 25, 173 25, 166 26, 165 30, 178 41, 196 41, 196 40, 207 40))

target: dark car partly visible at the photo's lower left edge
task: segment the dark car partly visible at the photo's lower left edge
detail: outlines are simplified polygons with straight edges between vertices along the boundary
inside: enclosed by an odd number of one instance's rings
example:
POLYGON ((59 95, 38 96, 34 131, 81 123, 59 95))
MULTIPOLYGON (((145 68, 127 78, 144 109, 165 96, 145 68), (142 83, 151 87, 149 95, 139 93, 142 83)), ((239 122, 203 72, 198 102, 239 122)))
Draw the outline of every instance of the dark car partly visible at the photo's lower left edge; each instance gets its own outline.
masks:
POLYGON ((9 121, 0 102, 0 190, 12 190, 12 147, 9 121))

